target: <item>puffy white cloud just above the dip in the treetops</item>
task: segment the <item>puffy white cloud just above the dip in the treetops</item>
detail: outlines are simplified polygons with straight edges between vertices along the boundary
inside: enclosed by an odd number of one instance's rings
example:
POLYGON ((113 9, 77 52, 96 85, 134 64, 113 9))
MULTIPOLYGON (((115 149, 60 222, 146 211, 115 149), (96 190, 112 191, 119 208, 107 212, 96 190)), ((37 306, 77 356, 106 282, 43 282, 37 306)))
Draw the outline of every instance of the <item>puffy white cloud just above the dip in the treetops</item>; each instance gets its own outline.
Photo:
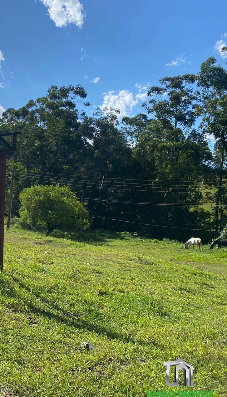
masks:
POLYGON ((103 98, 101 109, 119 109, 120 113, 117 114, 117 117, 120 119, 124 116, 130 116, 137 103, 138 98, 134 98, 134 94, 127 90, 119 91, 118 94, 116 91, 109 91, 103 98))

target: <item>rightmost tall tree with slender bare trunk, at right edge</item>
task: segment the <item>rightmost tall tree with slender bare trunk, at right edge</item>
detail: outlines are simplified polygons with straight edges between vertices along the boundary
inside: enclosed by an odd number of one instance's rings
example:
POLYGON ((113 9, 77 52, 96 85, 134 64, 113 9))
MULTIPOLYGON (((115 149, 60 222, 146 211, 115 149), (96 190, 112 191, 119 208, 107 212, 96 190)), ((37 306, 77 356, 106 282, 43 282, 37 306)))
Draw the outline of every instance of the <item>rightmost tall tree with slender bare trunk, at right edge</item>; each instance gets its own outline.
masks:
POLYGON ((224 155, 227 152, 227 71, 216 64, 214 57, 202 63, 198 74, 198 87, 202 89, 200 105, 197 106, 197 114, 202 116, 201 128, 204 133, 213 135, 219 151, 219 180, 215 211, 218 230, 223 222, 223 167, 224 155), (219 222, 220 205, 221 220, 219 222))

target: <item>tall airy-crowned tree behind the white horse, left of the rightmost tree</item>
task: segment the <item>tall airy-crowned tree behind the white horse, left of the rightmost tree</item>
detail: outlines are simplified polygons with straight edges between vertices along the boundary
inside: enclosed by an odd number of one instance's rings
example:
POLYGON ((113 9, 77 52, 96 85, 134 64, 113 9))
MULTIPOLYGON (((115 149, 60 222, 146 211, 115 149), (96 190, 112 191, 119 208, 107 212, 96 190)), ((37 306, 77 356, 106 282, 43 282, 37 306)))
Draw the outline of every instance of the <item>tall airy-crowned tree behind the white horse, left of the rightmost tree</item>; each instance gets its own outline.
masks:
MULTIPOLYGON (((158 200, 169 205, 198 202, 198 180, 202 182, 201 175, 208 170, 211 153, 204 137, 195 129, 199 96, 196 76, 165 77, 159 82, 160 86, 149 89, 149 100, 143 104, 153 119, 145 126, 138 147, 147 152, 156 182, 163 185, 158 200), (172 184, 162 182, 166 179, 172 180, 172 184), (182 183, 175 181, 190 181, 190 184, 185 183, 182 188, 182 183)), ((174 205, 168 208, 158 210, 163 223, 189 223, 192 212, 174 205)))

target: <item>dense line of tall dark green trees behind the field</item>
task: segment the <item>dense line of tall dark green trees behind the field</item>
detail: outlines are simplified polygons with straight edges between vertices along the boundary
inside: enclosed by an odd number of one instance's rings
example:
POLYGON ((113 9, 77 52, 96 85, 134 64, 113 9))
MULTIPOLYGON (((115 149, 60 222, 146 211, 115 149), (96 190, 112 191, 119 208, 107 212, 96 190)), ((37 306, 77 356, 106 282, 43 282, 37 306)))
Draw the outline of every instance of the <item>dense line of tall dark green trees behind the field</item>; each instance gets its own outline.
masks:
POLYGON ((144 113, 121 123, 113 109, 89 117, 86 97, 80 85, 53 86, 2 115, 0 133, 22 132, 8 160, 16 170, 13 215, 24 187, 59 183, 87 201, 93 228, 214 237, 209 230, 227 223, 227 71, 209 58, 198 75, 160 79, 144 113))

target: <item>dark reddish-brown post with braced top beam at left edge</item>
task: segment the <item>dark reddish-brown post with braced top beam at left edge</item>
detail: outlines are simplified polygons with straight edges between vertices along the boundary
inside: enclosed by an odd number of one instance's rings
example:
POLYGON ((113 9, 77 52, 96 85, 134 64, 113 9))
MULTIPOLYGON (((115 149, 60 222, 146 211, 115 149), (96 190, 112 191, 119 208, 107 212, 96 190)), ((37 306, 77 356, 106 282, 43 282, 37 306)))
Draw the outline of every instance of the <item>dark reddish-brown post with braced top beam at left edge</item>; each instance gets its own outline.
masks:
POLYGON ((17 149, 17 135, 21 132, 9 132, 0 134, 0 141, 6 148, 0 149, 0 271, 3 270, 3 250, 4 250, 4 218, 5 218, 5 199, 6 199, 6 156, 17 149), (12 136, 12 144, 8 143, 4 137, 12 136))

